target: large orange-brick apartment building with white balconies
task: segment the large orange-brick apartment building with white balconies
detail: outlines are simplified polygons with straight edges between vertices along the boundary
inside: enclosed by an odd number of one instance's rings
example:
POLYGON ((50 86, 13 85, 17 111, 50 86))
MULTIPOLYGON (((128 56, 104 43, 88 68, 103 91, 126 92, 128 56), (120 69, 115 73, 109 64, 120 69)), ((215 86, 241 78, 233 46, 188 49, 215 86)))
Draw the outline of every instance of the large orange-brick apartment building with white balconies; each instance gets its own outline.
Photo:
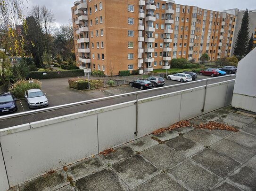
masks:
POLYGON ((77 66, 117 75, 229 56, 235 16, 173 0, 78 0, 72 7, 77 66))

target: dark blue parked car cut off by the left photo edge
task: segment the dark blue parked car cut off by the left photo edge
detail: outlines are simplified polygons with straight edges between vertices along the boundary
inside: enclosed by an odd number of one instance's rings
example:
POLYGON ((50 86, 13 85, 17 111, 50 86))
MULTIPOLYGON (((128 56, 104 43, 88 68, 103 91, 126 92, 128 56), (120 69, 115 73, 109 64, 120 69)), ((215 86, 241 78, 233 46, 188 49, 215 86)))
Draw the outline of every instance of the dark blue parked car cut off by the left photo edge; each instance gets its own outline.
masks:
POLYGON ((17 110, 16 99, 10 92, 0 94, 0 114, 14 112, 17 110))

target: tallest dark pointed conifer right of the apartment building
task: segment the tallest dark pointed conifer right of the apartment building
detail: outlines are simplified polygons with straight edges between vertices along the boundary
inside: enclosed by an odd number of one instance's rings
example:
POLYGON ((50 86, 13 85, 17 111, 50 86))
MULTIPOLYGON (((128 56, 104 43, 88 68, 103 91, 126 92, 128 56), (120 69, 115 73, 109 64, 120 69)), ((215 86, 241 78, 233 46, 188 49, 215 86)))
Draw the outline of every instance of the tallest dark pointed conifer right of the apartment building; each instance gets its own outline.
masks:
POLYGON ((248 40, 249 40, 249 16, 248 9, 244 12, 241 27, 239 29, 237 39, 234 47, 234 55, 241 60, 248 51, 248 40))

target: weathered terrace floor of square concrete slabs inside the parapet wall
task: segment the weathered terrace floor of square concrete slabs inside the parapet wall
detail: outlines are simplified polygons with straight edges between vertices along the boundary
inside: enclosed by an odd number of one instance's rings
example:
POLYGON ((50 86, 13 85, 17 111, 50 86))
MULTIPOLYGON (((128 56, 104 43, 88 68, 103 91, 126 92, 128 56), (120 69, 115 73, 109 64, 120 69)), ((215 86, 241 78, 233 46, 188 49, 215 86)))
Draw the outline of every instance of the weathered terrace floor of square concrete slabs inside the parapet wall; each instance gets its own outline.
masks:
POLYGON ((145 136, 10 190, 256 190, 256 118, 225 107, 189 122, 190 127, 145 136), (193 127, 208 121, 240 132, 193 127))

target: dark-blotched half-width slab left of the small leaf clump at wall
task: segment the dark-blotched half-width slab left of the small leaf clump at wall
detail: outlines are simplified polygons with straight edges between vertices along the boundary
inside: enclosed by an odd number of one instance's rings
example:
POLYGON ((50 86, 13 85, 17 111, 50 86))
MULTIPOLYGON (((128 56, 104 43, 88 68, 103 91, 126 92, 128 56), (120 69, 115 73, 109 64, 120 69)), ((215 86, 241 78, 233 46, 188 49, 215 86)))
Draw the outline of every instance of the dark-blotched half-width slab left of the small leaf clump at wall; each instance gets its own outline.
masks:
POLYGON ((73 181, 76 181, 84 176, 91 175, 103 168, 107 167, 107 163, 104 162, 103 159, 99 157, 99 155, 95 155, 94 157, 90 157, 88 159, 76 162, 70 166, 67 166, 67 175, 72 177, 73 181))

